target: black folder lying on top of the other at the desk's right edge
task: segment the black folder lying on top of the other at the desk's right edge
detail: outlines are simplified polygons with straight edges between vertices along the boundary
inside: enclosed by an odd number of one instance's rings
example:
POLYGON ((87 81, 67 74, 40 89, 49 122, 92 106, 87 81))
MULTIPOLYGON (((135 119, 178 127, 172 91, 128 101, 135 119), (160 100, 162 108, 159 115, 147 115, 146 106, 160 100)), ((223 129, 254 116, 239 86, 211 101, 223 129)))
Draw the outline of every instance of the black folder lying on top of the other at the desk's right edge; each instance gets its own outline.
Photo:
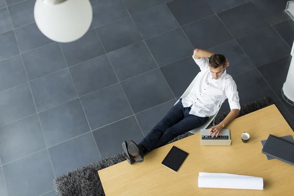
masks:
POLYGON ((262 153, 294 165, 294 144, 279 139, 278 137, 269 136, 262 153))

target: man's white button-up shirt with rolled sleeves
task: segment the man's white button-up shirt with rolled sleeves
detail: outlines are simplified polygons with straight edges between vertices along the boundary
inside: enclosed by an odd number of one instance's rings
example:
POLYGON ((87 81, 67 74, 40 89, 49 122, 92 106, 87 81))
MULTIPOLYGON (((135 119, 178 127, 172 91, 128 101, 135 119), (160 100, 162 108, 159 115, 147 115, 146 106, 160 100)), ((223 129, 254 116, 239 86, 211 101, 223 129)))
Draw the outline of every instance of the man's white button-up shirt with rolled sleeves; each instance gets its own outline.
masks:
POLYGON ((201 71, 196 75, 196 83, 190 94, 182 98, 184 107, 192 105, 190 114, 198 117, 213 116, 226 98, 228 98, 231 110, 240 110, 237 85, 232 76, 225 70, 219 79, 213 79, 209 70, 209 59, 195 59, 194 57, 193 59, 201 71))

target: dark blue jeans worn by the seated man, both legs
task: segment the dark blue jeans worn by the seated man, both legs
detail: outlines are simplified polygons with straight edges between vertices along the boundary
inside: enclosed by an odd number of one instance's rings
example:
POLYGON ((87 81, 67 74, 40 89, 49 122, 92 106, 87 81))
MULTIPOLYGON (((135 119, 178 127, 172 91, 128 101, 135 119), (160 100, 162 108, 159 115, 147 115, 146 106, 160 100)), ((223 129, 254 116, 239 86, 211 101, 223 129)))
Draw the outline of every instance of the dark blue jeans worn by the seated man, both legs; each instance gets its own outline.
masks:
POLYGON ((182 99, 172 106, 166 116, 157 123, 140 143, 148 151, 166 145, 169 141, 204 124, 208 117, 189 114, 191 108, 183 107, 182 99))

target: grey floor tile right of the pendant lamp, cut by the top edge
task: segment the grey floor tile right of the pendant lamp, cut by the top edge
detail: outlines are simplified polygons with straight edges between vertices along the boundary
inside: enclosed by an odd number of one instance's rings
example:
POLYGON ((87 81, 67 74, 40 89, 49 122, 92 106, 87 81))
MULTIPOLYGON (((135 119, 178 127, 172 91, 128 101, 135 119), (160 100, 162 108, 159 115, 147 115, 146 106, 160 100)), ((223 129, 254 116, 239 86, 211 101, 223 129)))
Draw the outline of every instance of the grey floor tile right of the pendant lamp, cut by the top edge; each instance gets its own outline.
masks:
POLYGON ((97 0, 92 3, 94 27, 128 16, 122 0, 97 0))

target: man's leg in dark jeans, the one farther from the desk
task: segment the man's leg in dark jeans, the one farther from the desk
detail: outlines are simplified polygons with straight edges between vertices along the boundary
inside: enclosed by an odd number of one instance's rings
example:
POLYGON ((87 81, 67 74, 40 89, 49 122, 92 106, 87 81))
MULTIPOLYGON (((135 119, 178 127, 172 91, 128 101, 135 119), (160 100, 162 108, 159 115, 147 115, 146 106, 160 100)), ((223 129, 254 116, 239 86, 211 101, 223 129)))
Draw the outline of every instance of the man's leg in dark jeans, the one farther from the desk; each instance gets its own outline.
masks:
POLYGON ((152 128, 139 146, 143 146, 147 151, 150 151, 153 145, 169 127, 180 122, 184 118, 184 111, 185 109, 180 100, 177 104, 172 106, 166 116, 152 128))

